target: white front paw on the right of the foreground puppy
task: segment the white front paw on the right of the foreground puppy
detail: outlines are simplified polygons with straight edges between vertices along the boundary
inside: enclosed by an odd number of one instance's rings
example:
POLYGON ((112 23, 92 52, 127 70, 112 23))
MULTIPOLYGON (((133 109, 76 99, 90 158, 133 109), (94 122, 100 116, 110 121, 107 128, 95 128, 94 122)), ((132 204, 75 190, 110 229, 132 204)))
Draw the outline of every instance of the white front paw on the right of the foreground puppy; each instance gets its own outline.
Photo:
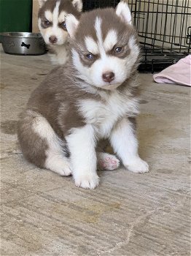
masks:
POLYGON ((147 173, 149 171, 149 165, 140 157, 136 157, 133 161, 125 164, 125 167, 133 173, 147 173))

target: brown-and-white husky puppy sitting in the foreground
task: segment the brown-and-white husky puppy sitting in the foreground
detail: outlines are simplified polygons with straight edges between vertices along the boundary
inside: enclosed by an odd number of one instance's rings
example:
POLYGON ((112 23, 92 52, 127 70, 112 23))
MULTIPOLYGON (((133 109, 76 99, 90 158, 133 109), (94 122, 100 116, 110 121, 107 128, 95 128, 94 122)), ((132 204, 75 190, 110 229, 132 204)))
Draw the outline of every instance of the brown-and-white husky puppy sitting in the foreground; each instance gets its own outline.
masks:
MULTIPOLYGON (((128 170, 147 172, 136 139, 139 45, 128 4, 86 12, 80 20, 68 15, 66 27, 72 58, 31 94, 18 127, 23 155, 94 189, 97 161, 106 159, 95 148, 108 139, 128 170)), ((111 156, 110 164, 116 160, 111 156)))

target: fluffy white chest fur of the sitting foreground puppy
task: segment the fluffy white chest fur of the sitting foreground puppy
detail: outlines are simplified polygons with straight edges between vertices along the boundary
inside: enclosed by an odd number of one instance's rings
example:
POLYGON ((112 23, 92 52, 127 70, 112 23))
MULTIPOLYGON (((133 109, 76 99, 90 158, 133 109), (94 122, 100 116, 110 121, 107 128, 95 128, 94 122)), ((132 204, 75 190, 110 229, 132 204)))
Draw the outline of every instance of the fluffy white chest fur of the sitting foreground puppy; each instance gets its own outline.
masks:
POLYGON ((107 138, 122 116, 135 116, 138 113, 137 101, 118 94, 106 102, 85 99, 80 102, 80 112, 87 124, 93 125, 99 138, 107 138))

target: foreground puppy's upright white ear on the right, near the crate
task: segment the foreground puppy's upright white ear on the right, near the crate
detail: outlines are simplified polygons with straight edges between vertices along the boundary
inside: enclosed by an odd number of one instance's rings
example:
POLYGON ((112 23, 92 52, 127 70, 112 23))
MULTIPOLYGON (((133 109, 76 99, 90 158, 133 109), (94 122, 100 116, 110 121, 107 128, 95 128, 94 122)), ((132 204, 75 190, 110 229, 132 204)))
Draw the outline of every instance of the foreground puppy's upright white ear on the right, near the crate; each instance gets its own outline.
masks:
POLYGON ((120 3, 117 4, 115 12, 125 23, 132 25, 130 9, 125 1, 120 1, 120 3))

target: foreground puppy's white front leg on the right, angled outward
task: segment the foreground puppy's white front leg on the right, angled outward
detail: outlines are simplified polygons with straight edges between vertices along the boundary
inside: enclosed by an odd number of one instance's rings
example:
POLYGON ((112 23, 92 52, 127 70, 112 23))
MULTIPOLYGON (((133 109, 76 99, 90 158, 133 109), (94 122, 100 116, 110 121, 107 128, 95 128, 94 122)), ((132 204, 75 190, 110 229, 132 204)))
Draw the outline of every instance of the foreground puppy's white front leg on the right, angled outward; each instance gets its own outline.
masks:
POLYGON ((114 151, 122 159, 122 164, 134 173, 146 173, 149 165, 139 157, 138 141, 130 118, 118 122, 111 134, 114 151))

